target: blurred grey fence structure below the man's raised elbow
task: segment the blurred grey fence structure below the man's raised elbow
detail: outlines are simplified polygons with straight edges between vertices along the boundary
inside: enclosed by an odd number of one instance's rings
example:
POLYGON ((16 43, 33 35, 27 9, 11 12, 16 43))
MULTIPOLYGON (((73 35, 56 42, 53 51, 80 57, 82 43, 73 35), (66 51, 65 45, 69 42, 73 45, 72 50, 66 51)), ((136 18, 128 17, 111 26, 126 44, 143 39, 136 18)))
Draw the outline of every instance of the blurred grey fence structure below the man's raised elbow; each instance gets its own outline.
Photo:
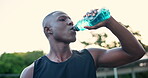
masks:
POLYGON ((138 60, 136 62, 118 67, 116 69, 117 72, 115 72, 113 68, 99 68, 97 70, 97 78, 113 78, 115 73, 117 73, 118 76, 127 74, 131 75, 130 78, 138 78, 136 77, 136 74, 142 72, 147 72, 148 78, 148 59, 138 60))

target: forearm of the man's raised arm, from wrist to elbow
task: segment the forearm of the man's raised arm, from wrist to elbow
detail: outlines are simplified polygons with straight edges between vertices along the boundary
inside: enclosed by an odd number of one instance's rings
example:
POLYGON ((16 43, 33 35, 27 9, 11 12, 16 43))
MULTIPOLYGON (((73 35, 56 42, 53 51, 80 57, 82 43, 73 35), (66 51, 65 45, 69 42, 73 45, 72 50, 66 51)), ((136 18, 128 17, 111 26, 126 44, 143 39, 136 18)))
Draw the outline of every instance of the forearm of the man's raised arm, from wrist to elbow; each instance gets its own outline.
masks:
POLYGON ((119 24, 113 17, 107 20, 106 27, 119 39, 122 49, 129 55, 140 58, 145 54, 145 50, 133 34, 119 24))

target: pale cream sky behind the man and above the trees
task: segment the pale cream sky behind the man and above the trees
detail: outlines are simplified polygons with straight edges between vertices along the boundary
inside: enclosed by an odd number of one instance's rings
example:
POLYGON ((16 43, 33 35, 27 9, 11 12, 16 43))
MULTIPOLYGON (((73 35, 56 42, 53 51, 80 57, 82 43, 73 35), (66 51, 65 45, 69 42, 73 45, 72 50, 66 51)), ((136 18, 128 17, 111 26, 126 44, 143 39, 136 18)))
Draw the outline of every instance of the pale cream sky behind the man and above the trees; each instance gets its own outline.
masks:
MULTIPOLYGON (((117 21, 139 31, 142 42, 148 45, 147 3, 147 0, 0 0, 0 52, 49 52, 49 42, 42 28, 42 20, 47 14, 63 11, 76 23, 86 12, 102 7, 108 8, 117 21)), ((94 31, 110 32, 106 28, 94 31)), ((111 39, 116 37, 111 34, 111 39)), ((83 40, 93 40, 90 31, 78 32, 77 41, 71 48, 83 49, 84 45, 80 44, 83 40)))

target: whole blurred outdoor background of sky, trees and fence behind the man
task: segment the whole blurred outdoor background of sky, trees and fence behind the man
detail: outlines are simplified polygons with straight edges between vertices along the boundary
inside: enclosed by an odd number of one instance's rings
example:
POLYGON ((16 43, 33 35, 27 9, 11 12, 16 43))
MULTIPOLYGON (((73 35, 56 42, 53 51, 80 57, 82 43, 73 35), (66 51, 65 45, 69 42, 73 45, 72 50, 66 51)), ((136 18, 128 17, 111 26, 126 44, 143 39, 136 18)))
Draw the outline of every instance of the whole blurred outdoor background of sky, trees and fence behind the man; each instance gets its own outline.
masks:
MULTIPOLYGON (((148 51, 147 0, 0 0, 0 78, 19 78, 21 71, 48 53, 42 20, 52 11, 67 13, 74 23, 86 12, 108 8, 111 15, 148 51)), ((120 47, 106 28, 77 32, 71 49, 120 47)), ((148 52, 140 60, 118 67, 99 68, 98 78, 148 78, 148 52)))

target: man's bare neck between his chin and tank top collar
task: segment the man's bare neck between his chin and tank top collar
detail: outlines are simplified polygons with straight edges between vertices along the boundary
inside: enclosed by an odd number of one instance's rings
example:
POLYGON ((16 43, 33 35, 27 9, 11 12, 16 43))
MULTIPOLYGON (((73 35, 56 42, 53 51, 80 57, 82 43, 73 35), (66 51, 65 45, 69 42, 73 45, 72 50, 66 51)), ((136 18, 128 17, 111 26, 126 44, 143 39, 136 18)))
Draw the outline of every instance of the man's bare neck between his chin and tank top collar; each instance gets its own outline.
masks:
POLYGON ((51 42, 50 52, 47 54, 48 58, 55 62, 63 62, 70 58, 72 52, 69 44, 63 42, 51 42))

